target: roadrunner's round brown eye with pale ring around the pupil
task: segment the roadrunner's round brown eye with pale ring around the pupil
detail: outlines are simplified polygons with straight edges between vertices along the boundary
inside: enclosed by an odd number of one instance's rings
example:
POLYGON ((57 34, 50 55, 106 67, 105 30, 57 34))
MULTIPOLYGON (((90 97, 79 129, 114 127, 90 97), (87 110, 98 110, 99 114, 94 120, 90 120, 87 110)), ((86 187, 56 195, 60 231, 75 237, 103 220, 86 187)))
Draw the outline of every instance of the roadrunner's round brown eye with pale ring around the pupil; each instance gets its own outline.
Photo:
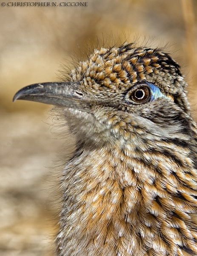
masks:
POLYGON ((150 87, 147 84, 137 85, 126 94, 125 99, 133 104, 146 103, 151 99, 150 87))

